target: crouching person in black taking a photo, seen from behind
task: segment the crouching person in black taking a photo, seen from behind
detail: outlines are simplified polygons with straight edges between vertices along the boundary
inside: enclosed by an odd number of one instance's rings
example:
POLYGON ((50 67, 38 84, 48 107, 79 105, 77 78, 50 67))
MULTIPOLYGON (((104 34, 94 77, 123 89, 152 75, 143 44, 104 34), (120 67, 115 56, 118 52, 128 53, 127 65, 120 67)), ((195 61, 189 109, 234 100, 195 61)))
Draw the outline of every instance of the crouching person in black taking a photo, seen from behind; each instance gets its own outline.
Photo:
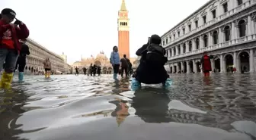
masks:
POLYGON ((146 84, 165 84, 168 74, 165 70, 166 51, 160 43, 162 39, 158 35, 152 35, 149 42, 142 45, 136 51, 136 55, 141 56, 139 67, 134 75, 136 81, 146 84))

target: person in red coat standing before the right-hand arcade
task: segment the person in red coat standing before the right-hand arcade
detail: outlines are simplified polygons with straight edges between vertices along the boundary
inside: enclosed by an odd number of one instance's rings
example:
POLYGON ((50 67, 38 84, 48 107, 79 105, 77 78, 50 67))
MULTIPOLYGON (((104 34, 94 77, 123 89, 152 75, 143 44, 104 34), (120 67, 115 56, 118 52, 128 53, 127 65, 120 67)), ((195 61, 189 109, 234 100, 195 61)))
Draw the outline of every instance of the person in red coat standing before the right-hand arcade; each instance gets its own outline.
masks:
POLYGON ((203 57, 201 58, 201 65, 203 69, 204 76, 210 76, 210 71, 212 71, 212 65, 210 59, 213 58, 213 55, 208 55, 207 51, 203 52, 203 57))

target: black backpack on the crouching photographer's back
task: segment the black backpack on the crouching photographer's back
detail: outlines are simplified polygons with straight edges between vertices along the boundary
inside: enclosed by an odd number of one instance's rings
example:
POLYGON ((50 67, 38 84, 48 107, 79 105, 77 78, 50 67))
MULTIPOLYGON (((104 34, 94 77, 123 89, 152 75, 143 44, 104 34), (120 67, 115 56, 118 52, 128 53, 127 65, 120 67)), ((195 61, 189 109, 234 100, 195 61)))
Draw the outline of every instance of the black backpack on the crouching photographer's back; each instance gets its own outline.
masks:
POLYGON ((154 66, 164 66, 168 61, 165 53, 165 48, 161 45, 150 44, 147 47, 146 62, 154 66))

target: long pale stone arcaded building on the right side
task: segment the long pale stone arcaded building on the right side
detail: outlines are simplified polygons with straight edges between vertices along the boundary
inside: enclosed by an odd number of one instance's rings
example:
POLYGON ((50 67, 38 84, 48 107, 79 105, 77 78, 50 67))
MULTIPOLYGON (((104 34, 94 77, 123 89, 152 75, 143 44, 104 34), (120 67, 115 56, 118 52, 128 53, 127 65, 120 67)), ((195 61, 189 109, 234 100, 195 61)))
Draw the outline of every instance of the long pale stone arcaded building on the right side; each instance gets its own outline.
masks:
POLYGON ((256 1, 207 2, 162 36, 168 51, 168 71, 200 73, 203 51, 215 55, 212 67, 226 73, 256 69, 256 1))

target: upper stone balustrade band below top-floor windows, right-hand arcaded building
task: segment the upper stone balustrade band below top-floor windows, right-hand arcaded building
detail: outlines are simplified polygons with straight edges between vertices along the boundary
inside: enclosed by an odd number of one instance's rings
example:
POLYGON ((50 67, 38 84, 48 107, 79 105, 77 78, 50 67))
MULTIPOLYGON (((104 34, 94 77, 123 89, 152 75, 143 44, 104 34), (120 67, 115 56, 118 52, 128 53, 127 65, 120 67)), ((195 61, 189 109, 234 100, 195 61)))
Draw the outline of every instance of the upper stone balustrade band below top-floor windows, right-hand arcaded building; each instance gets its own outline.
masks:
POLYGON ((200 30, 205 29, 207 26, 211 26, 215 23, 218 23, 221 20, 226 19, 226 17, 232 16, 233 14, 238 13, 239 11, 242 11, 245 8, 251 7, 251 5, 255 5, 256 0, 249 0, 242 5, 239 5, 237 8, 233 8, 232 10, 226 12, 225 14, 220 15, 219 17, 216 17, 213 20, 210 20, 207 23, 204 23, 202 26, 198 26, 197 29, 191 30, 189 33, 184 34, 184 36, 179 37, 178 39, 174 39, 171 42, 168 42, 167 44, 164 45, 164 48, 167 47, 168 45, 173 44, 174 42, 179 42, 181 39, 187 38, 187 36, 191 36, 194 33, 199 32, 200 30))

